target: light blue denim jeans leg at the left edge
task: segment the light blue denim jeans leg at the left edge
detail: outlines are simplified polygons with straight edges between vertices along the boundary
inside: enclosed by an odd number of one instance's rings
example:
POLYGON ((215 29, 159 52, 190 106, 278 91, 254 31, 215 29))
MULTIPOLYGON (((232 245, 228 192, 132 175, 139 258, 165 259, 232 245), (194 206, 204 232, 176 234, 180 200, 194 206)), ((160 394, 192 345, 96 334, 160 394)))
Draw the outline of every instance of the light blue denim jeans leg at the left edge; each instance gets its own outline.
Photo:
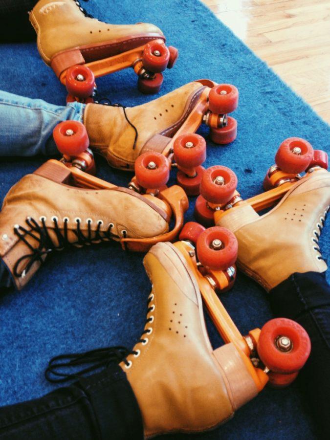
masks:
POLYGON ((61 121, 83 122, 85 104, 48 104, 0 90, 0 156, 58 154, 52 132, 61 121))

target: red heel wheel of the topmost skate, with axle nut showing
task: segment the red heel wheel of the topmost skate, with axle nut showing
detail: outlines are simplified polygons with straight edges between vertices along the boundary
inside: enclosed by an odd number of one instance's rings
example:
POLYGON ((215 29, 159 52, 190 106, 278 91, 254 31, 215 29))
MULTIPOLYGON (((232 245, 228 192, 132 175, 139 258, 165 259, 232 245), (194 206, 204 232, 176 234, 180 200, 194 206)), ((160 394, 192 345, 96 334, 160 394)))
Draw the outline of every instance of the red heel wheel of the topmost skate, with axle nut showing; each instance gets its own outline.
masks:
POLYGON ((94 73, 86 66, 71 66, 66 70, 66 90, 80 99, 88 98, 94 91, 94 73))

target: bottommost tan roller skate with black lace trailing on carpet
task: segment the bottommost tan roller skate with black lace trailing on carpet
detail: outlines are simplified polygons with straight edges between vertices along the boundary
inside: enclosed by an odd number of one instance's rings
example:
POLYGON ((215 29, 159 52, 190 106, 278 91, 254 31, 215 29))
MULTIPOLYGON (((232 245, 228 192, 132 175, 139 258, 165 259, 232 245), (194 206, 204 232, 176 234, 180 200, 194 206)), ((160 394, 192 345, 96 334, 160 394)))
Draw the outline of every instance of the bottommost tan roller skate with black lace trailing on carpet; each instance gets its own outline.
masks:
MULTIPOLYGON (((199 272, 195 249, 188 242, 156 244, 144 265, 152 291, 139 341, 132 350, 101 349, 99 359, 97 351, 91 354, 95 366, 115 356, 121 360, 141 411, 145 438, 215 428, 257 396, 271 373, 292 380, 305 364, 310 341, 294 321, 274 319, 262 330, 242 336, 199 272), (207 334, 202 299, 213 310, 225 343, 216 350, 207 334), (287 350, 292 341, 294 348, 287 350)), ((46 377, 64 380, 64 357, 52 359, 46 377)), ((88 353, 83 358, 70 356, 68 364, 77 366, 79 359, 87 358, 88 353)))

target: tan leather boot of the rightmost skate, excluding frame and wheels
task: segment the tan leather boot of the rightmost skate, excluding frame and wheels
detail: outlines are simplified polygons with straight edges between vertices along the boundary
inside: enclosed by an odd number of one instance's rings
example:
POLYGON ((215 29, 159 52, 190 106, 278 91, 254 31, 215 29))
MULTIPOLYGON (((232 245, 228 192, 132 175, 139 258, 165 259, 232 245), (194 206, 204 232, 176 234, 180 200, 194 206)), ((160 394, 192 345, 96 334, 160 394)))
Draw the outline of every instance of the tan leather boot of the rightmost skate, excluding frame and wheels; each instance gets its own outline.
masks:
POLYGON ((263 216, 242 203, 217 223, 235 233, 238 266, 267 291, 295 272, 327 270, 318 241, 330 205, 330 173, 315 168, 306 177, 263 216))

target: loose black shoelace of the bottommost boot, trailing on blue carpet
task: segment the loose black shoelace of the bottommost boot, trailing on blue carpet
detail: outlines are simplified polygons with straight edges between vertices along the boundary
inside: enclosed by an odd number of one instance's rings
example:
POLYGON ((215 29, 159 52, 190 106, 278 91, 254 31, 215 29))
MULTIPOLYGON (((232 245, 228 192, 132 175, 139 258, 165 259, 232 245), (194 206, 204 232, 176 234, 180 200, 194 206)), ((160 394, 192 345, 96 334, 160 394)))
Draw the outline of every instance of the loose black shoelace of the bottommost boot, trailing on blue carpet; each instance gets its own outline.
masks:
MULTIPOLYGON (((152 300, 148 298, 148 311, 153 310, 149 307, 149 303, 152 300)), ((146 322, 151 322, 152 318, 148 318, 146 322)), ((144 330, 142 335, 148 334, 150 331, 144 330)), ((137 343, 145 344, 147 341, 143 336, 137 341, 137 343)), ((79 379, 80 377, 88 374, 92 371, 98 370, 102 367, 107 368, 111 363, 124 362, 129 366, 130 363, 127 357, 130 354, 138 355, 136 350, 129 350, 123 346, 105 347, 84 353, 68 353, 54 356, 48 363, 48 367, 45 371, 45 378, 51 383, 63 383, 72 379, 79 379), (77 367, 87 365, 85 368, 77 369, 77 367), (68 370, 74 369, 73 373, 68 373, 68 370)))

